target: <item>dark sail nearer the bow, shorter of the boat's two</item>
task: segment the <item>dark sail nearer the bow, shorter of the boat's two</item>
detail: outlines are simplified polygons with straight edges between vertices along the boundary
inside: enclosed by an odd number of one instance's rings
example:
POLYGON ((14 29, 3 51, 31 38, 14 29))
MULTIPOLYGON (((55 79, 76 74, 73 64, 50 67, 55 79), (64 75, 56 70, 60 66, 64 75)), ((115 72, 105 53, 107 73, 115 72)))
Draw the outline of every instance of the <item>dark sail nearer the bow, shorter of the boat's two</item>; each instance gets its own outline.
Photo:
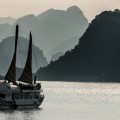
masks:
POLYGON ((32 34, 30 32, 29 49, 25 68, 18 81, 32 84, 32 34))

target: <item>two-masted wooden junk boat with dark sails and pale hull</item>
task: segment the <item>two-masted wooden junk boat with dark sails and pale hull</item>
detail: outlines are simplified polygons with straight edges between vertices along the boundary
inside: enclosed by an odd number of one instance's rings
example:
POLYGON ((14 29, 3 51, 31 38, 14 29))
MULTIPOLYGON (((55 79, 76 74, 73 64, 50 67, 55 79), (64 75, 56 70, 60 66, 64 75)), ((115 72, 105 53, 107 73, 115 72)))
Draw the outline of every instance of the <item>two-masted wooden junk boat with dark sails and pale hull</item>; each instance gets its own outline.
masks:
POLYGON ((16 25, 15 50, 10 67, 4 80, 0 80, 0 109, 38 108, 44 100, 41 83, 32 79, 32 34, 30 32, 29 48, 25 67, 16 80, 16 52, 19 26, 16 25))

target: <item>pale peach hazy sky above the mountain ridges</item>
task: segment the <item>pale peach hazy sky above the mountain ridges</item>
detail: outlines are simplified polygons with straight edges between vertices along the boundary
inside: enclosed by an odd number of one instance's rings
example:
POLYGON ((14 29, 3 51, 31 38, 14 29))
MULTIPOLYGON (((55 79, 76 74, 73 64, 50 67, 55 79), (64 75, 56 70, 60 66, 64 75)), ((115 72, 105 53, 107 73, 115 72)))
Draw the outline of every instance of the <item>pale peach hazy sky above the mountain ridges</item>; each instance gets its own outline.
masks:
POLYGON ((50 8, 66 9, 73 5, 81 8, 91 21, 101 11, 120 9, 120 0, 0 0, 0 17, 37 15, 50 8))

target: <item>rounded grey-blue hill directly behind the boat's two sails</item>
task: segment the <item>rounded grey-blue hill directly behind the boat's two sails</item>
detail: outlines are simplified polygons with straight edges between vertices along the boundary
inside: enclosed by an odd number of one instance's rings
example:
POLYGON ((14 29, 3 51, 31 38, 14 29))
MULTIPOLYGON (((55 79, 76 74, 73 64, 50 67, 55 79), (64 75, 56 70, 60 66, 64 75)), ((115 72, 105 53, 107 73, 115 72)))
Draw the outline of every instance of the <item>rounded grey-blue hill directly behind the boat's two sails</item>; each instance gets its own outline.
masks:
MULTIPOLYGON (((10 66, 13 53, 14 53, 14 37, 8 37, 0 42, 0 75, 4 76, 10 66), (4 52, 3 52, 4 51, 4 52)), ((26 38, 19 37, 17 48, 17 63, 18 68, 24 68, 27 54, 28 54, 29 41, 26 38)), ((47 60, 43 55, 42 50, 33 45, 33 73, 35 73, 39 67, 46 66, 47 60)))

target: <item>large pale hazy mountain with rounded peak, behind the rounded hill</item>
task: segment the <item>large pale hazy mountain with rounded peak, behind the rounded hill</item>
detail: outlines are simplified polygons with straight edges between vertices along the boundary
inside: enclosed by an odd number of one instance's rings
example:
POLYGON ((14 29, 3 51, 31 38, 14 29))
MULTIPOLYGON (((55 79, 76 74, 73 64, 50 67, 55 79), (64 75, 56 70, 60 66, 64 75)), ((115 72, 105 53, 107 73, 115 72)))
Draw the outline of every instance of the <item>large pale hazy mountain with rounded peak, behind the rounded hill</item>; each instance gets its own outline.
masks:
MULTIPOLYGON (((19 35, 21 37, 28 38, 30 30, 32 31, 33 43, 43 50, 44 55, 50 61, 53 54, 62 52, 57 46, 68 40, 72 42, 73 37, 83 35, 88 27, 88 20, 77 6, 72 6, 66 11, 49 9, 38 16, 32 14, 23 16, 11 26, 9 36, 14 36, 16 24, 20 26, 19 35), (53 50, 53 48, 57 48, 57 50, 53 50)), ((0 28, 1 30, 3 29, 0 28)), ((0 40, 6 37, 8 37, 6 32, 0 33, 0 40)), ((76 45, 79 39, 73 41, 75 41, 76 45)), ((73 42, 71 44, 73 45, 73 42)), ((63 48, 63 51, 70 50, 71 44, 69 43, 70 46, 63 48)))

